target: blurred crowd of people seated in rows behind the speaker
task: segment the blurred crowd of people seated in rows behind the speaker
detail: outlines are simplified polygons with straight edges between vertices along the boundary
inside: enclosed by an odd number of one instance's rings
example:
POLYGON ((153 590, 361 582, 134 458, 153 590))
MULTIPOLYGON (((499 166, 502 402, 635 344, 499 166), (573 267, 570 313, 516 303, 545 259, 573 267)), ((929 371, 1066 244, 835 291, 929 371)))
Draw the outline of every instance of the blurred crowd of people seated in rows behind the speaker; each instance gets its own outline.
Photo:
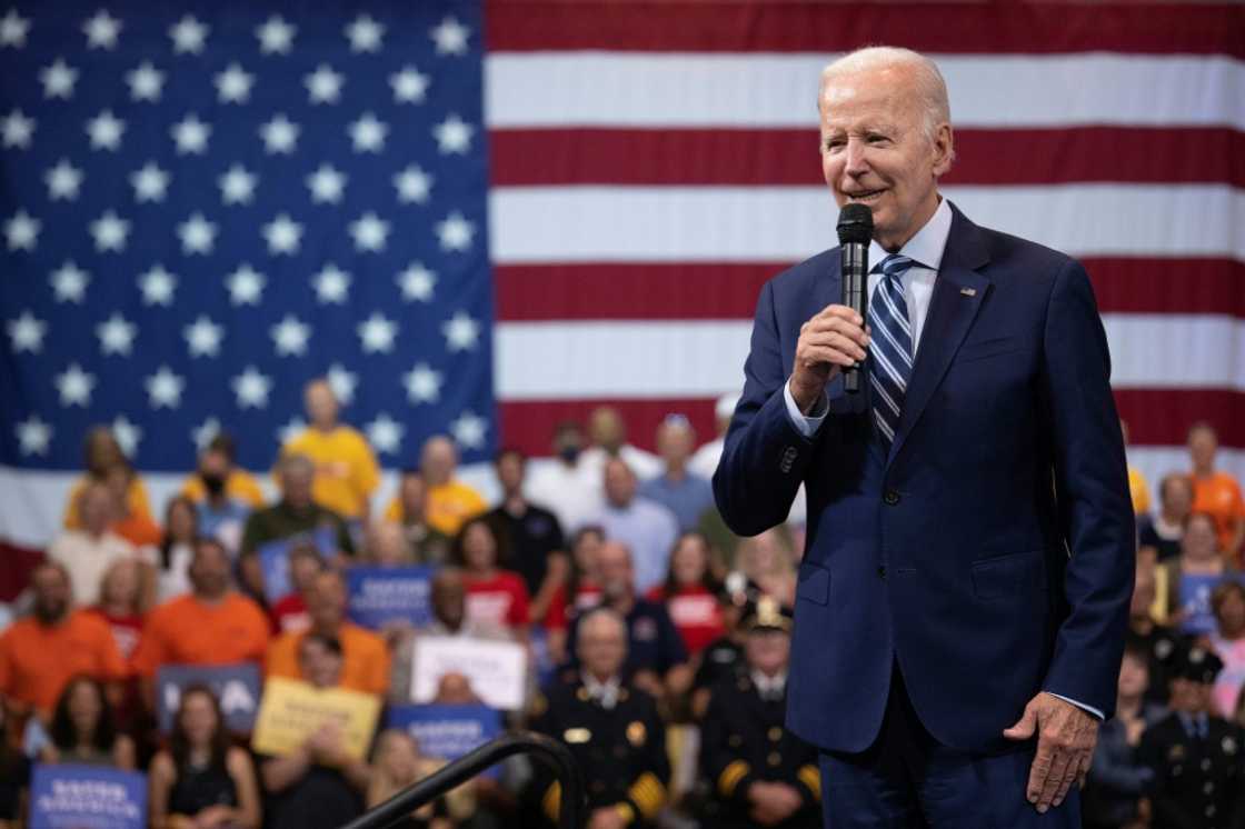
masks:
MULTIPOLYGON (((156 513, 111 432, 87 436, 63 532, 0 632, 0 825, 24 819, 35 763, 144 770, 152 827, 341 825, 444 759, 383 724, 362 757, 327 727, 263 753, 203 683, 181 690, 162 729, 157 673, 251 663, 265 682, 398 706, 420 683, 420 641, 447 636, 523 647, 524 702, 505 724, 568 744, 590 829, 822 825, 817 749, 783 727, 803 529, 737 538, 717 514, 710 478, 732 400, 700 447, 685 417, 666 417, 656 454, 627 443, 609 407, 586 428, 561 423, 539 469, 498 453, 496 504, 458 477, 446 437, 375 503, 375 456, 329 383, 310 383, 305 403, 310 426, 276 458, 274 500, 218 434, 156 513), (431 621, 351 621, 360 565, 431 568, 431 621)), ((1158 482, 1153 505, 1130 471, 1137 589, 1087 827, 1245 823, 1245 500, 1216 448, 1195 424, 1190 468, 1158 482)), ((489 696, 459 672, 423 678, 433 703, 489 696)), ((535 827, 560 798, 545 768, 515 759, 406 823, 535 827)))

